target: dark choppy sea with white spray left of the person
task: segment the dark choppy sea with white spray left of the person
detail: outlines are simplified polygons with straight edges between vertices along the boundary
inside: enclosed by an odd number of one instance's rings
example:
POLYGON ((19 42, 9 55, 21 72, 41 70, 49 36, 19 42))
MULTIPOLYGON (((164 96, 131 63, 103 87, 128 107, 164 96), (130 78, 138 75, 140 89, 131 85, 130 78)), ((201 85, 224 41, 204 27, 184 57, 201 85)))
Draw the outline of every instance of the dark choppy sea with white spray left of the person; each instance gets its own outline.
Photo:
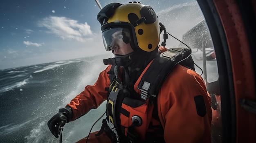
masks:
MULTIPOLYGON (((103 55, 0 70, 0 143, 58 143, 47 121, 106 68, 103 55)), ((105 103, 106 104, 106 103, 105 103)), ((105 112, 103 103, 66 123, 63 142, 87 136, 105 112)), ((99 130, 101 120, 92 131, 99 130)))

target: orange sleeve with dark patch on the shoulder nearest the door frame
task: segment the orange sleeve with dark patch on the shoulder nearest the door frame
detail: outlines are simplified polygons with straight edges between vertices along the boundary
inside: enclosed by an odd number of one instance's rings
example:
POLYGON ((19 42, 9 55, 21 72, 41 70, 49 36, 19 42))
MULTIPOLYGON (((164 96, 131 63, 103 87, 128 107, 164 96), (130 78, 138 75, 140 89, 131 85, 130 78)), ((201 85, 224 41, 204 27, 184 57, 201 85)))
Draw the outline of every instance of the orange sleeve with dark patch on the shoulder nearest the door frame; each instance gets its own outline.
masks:
POLYGON ((159 91, 157 108, 166 143, 211 143, 211 98, 193 70, 175 66, 159 91), (196 97, 201 97, 201 103, 196 103, 196 97), (197 109, 203 102, 205 108, 197 109))

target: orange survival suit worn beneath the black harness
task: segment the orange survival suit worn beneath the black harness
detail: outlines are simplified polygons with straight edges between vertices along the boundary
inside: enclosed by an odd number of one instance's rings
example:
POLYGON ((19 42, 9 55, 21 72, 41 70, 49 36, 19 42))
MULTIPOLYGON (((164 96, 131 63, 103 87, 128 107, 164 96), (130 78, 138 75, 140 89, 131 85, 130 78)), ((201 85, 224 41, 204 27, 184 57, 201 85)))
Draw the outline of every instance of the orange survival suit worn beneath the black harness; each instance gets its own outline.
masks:
MULTIPOLYGON (((160 47, 159 50, 163 52, 167 49, 160 47)), ((94 85, 86 86, 85 90, 67 105, 72 108, 71 121, 83 116, 90 109, 99 107, 108 99, 106 89, 110 86, 108 74, 110 68, 111 66, 108 66, 103 70, 94 85)), ((134 90, 138 94, 140 90, 137 85, 141 76, 134 85, 134 90)), ((195 71, 177 64, 162 84, 156 103, 166 143, 211 143, 211 98, 203 79, 195 71), (198 102, 205 107, 198 106, 198 102), (201 114, 201 109, 205 110, 206 114, 201 114)), ((90 134, 88 142, 112 142, 105 133, 95 136, 96 133, 90 134)), ((79 143, 86 142, 86 139, 87 137, 81 139, 79 143)))

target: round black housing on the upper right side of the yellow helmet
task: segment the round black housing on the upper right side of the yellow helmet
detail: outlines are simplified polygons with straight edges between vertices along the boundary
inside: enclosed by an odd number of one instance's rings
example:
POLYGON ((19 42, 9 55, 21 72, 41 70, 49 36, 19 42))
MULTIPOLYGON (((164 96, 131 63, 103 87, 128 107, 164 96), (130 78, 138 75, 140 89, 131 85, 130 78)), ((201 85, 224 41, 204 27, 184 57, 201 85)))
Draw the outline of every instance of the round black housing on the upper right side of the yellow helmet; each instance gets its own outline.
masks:
POLYGON ((145 21, 144 21, 145 24, 151 24, 157 20, 157 15, 155 14, 155 11, 153 10, 153 8, 150 6, 142 7, 140 14, 141 14, 141 17, 145 18, 145 21))

